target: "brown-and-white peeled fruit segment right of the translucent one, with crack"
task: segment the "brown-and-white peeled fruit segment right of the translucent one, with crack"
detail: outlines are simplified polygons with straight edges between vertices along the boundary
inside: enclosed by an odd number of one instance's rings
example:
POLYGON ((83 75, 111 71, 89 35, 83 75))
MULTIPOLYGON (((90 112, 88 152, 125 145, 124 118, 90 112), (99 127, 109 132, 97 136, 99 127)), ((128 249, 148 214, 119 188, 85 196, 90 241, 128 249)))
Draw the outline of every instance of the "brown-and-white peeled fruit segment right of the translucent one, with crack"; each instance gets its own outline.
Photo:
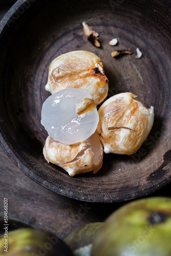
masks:
POLYGON ((147 109, 132 93, 120 93, 99 108, 97 132, 105 153, 131 155, 146 140, 154 122, 154 110, 147 109))

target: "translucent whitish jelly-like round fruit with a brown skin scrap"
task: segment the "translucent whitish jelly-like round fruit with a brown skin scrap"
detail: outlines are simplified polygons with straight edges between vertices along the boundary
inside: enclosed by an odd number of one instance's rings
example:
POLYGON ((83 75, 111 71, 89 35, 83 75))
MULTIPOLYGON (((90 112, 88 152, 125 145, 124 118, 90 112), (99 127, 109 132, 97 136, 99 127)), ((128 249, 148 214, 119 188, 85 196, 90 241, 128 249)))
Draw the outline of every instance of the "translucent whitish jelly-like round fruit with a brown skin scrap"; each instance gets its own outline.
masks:
POLYGON ((55 141, 67 145, 89 138, 96 131, 98 121, 94 100, 80 89, 61 90, 42 104, 41 124, 55 141))

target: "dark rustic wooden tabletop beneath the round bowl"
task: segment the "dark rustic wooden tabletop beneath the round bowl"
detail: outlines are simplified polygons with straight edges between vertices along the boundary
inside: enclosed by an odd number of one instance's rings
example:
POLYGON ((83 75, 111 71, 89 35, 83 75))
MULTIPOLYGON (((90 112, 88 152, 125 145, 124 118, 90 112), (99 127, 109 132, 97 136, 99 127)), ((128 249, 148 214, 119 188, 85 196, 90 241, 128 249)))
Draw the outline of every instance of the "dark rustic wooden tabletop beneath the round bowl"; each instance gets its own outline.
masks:
MULTIPOLYGON (((10 5, 0 5, 0 20, 9 8, 10 5)), ((171 197, 170 185, 149 196, 171 197)), ((0 218, 4 214, 4 198, 9 202, 9 219, 57 233, 62 239, 83 224, 105 220, 125 204, 86 203, 57 195, 22 173, 0 148, 0 218)))

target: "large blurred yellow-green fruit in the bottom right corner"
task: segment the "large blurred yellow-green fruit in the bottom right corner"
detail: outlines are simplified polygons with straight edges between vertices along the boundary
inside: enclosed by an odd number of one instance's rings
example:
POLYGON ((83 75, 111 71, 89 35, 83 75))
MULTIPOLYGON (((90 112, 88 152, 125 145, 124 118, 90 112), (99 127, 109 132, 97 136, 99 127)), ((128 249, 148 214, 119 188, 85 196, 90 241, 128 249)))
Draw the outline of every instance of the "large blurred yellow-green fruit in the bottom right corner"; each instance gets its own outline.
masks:
POLYGON ((171 199, 137 200, 115 211, 93 241, 92 256, 170 256, 171 199))

